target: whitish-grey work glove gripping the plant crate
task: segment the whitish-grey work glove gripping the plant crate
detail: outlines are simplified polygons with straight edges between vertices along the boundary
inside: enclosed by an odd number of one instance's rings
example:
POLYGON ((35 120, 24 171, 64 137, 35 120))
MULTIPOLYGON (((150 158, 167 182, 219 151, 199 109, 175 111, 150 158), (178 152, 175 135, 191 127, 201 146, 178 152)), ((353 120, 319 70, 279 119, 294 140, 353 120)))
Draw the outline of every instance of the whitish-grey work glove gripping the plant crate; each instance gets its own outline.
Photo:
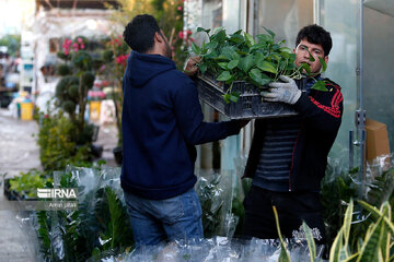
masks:
POLYGON ((294 105, 301 96, 301 91, 298 88, 296 82, 286 76, 280 75, 279 80, 282 82, 273 82, 268 84, 269 92, 262 92, 265 102, 283 102, 294 105))

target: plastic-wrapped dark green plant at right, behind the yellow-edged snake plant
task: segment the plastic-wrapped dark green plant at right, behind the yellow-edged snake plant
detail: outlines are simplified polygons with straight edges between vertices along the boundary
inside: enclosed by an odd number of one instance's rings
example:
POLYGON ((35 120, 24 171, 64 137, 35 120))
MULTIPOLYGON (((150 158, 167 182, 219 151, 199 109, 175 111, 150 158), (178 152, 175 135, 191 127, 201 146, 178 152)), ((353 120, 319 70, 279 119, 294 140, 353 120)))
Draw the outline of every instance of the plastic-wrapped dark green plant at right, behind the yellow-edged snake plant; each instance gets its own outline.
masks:
MULTIPOLYGON (((349 170, 340 158, 328 158, 325 178, 322 181, 323 218, 326 225, 327 242, 332 243, 343 226, 345 211, 351 200, 364 201, 379 207, 389 201, 394 204, 394 165, 393 155, 378 157, 367 166, 364 175, 358 168, 349 170)), ((371 213, 355 201, 352 210, 352 229, 348 247, 357 250, 364 237, 371 213)))

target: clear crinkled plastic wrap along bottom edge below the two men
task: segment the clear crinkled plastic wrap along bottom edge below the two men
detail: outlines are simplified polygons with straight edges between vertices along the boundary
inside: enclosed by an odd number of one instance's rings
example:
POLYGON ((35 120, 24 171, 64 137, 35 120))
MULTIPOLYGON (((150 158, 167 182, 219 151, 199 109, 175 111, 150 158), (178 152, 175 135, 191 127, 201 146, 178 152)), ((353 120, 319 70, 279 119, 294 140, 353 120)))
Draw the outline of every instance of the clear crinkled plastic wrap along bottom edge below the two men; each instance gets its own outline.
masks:
MULTIPOLYGON (((305 242, 287 241, 288 252, 292 262, 311 261, 305 242)), ((323 247, 316 248, 314 261, 321 261, 323 247)), ((159 246, 141 247, 129 253, 109 257, 106 262, 276 262, 280 253, 280 243, 274 239, 229 239, 215 237, 200 240, 182 240, 159 246)))

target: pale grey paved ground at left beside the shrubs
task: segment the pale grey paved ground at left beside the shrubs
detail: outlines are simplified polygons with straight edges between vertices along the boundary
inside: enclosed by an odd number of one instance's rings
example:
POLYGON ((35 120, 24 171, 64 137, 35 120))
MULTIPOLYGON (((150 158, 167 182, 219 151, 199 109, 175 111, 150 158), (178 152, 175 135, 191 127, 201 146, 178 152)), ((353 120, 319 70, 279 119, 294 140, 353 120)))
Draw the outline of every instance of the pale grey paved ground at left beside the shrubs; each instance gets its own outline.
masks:
MULTIPOLYGON (((0 262, 36 261, 34 239, 28 238, 23 216, 12 209, 3 195, 3 177, 18 176, 32 168, 42 169, 39 147, 34 134, 38 131, 35 121, 12 118, 7 109, 0 109, 0 262)), ((116 166, 112 153, 117 142, 115 126, 100 128, 96 144, 103 145, 102 157, 109 166, 116 166)))

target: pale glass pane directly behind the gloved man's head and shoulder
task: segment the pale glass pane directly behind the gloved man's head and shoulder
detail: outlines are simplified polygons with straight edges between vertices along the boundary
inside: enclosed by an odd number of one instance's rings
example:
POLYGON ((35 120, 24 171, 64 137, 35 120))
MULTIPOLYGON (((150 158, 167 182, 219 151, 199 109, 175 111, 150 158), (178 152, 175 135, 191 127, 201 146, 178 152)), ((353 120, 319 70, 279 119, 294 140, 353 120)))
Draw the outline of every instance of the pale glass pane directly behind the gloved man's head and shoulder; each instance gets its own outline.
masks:
MULTIPOLYGON (((341 86, 344 116, 338 136, 331 155, 339 158, 349 150, 349 131, 355 130, 355 112, 358 109, 357 74, 359 45, 359 1, 320 0, 320 24, 333 38, 333 49, 325 76, 341 86), (340 7, 340 9, 338 9, 340 7)), ((356 148, 355 148, 356 150, 356 148)), ((341 158, 347 163, 348 158, 341 158)), ((356 158, 355 158, 356 159, 356 158)))

